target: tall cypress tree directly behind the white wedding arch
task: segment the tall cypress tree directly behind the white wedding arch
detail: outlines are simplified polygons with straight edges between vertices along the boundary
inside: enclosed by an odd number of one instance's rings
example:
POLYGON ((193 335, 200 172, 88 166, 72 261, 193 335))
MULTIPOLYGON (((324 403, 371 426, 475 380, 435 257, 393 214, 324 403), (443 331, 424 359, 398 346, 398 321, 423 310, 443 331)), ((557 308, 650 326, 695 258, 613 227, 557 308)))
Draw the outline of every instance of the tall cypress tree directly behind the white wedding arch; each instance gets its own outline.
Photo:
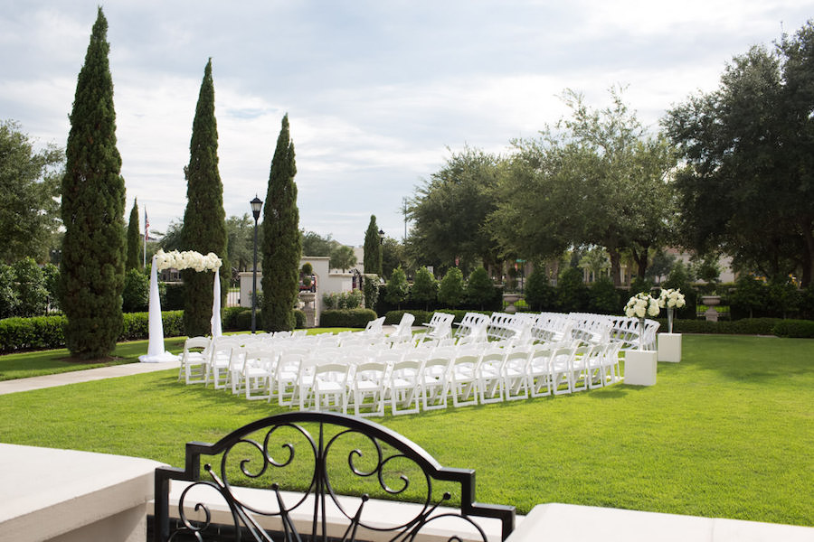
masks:
MULTIPOLYGON (((189 142, 189 165, 186 177, 186 210, 181 231, 185 250, 201 254, 215 253, 223 260, 221 267, 221 306, 228 292, 226 279, 226 211, 223 210, 223 185, 218 173, 218 126, 214 116, 212 59, 206 62, 204 80, 195 107, 193 133, 189 142)), ((213 272, 181 272, 185 283, 184 328, 188 336, 209 334, 212 320, 213 272)))

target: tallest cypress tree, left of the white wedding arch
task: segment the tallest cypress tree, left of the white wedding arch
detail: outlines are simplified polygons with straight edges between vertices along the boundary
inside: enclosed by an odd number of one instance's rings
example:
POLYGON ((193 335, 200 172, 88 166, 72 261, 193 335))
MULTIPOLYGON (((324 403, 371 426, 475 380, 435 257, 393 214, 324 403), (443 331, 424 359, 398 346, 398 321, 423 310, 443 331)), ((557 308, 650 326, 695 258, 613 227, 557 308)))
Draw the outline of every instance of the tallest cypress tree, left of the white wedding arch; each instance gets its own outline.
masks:
POLYGON ((108 21, 99 7, 76 83, 62 178, 62 308, 71 354, 101 358, 122 329, 125 183, 116 147, 108 21))

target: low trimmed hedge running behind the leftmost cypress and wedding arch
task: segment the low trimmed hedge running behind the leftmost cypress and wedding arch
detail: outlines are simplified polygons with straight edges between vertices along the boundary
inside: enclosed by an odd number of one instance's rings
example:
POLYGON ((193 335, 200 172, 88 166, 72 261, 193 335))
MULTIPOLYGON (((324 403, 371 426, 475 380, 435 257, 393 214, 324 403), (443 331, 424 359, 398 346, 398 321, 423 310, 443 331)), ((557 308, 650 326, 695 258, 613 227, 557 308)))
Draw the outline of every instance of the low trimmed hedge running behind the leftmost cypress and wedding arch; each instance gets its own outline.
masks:
MULTIPOLYGON (((124 326, 118 341, 137 341, 149 337, 148 313, 125 313, 124 326)), ((161 313, 165 337, 184 335, 181 311, 161 313)), ((60 316, 34 316, 33 318, 6 318, 0 320, 0 352, 20 350, 49 350, 65 347, 65 324, 60 316)))

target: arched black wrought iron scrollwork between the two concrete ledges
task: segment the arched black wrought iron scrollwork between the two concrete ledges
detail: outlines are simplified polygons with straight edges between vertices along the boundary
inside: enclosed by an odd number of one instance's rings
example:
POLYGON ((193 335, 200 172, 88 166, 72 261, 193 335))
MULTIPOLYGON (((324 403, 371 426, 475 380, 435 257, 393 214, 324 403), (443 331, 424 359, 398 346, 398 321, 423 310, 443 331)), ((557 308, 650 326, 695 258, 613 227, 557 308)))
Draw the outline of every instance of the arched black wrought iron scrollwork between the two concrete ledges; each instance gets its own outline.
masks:
MULTIPOLYGON (((474 472, 441 467, 421 447, 365 419, 330 413, 291 412, 270 416, 224 436, 215 444, 188 443, 185 469, 156 469, 156 541, 192 537, 216 540, 210 501, 201 500, 192 491, 211 489, 221 502, 218 506, 230 519, 234 539, 293 541, 300 539, 293 514, 311 518, 308 536, 327 540, 327 509, 338 510, 346 519, 343 540, 356 540, 362 532, 392 532, 393 540, 413 540, 421 529, 440 519, 463 520, 470 531, 487 537, 478 526, 478 517, 500 519, 505 539, 514 528, 514 507, 483 505, 475 502, 474 472), (308 426, 307 426, 308 425, 308 426), (308 428, 314 425, 313 432, 308 428), (207 459, 201 469, 202 457, 207 459), (216 460, 220 458, 220 461, 216 460), (215 472, 213 464, 218 465, 215 472), (344 467, 342 467, 344 465, 344 467), (343 472, 344 471, 344 472, 343 472), (304 474, 296 478, 296 475, 304 474), (170 528, 169 481, 188 481, 181 492, 175 516, 179 521, 170 528), (449 491, 433 496, 434 482, 451 484, 459 491, 459 513, 450 512, 453 500, 449 491), (355 504, 340 495, 348 488, 359 495, 355 504), (263 495, 252 500, 234 491, 245 485, 260 487, 263 495), (364 491, 362 491, 364 489, 364 491), (411 517, 384 525, 381 518, 367 513, 371 495, 417 502, 411 517), (187 505, 188 500, 196 501, 187 505), (440 507, 445 507, 440 509, 440 507), (190 517, 194 510, 195 518, 190 517), (263 517, 275 519, 271 535, 263 517)), ((340 516, 340 517, 342 517, 340 516)), ((267 526, 268 528, 268 526, 267 526)), ((450 537, 450 542, 461 540, 450 537)))

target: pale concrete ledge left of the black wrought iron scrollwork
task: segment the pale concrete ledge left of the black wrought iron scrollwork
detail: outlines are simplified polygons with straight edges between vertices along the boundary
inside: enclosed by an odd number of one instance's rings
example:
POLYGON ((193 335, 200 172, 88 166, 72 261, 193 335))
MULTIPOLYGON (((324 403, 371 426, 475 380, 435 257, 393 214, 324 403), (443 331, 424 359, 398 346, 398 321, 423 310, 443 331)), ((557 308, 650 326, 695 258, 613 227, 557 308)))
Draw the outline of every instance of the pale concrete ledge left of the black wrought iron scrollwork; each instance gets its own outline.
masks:
POLYGON ((5 466, 0 487, 0 533, 5 539, 146 539, 147 502, 162 463, 0 444, 0 464, 5 466))

